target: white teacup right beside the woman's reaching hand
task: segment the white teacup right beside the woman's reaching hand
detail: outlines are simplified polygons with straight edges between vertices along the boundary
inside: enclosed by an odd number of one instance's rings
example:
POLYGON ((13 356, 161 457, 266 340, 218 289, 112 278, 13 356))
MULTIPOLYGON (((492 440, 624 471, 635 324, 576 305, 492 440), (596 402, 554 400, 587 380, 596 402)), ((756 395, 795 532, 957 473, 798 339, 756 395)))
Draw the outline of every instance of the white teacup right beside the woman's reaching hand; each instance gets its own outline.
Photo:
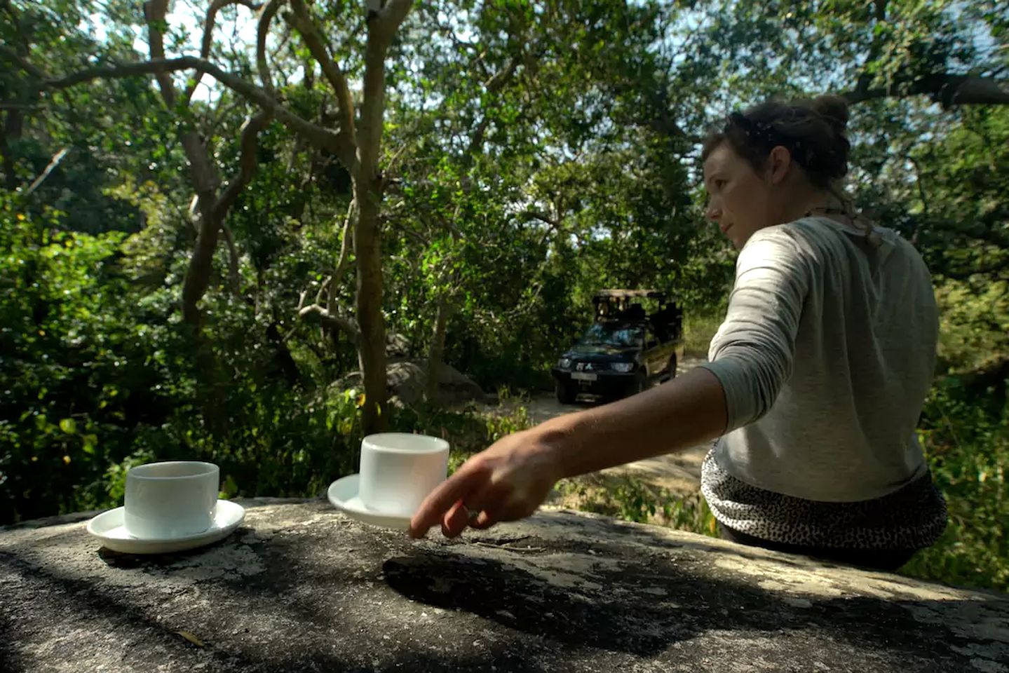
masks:
POLYGON ((373 512, 410 517, 448 473, 448 442, 382 433, 361 441, 358 496, 373 512))

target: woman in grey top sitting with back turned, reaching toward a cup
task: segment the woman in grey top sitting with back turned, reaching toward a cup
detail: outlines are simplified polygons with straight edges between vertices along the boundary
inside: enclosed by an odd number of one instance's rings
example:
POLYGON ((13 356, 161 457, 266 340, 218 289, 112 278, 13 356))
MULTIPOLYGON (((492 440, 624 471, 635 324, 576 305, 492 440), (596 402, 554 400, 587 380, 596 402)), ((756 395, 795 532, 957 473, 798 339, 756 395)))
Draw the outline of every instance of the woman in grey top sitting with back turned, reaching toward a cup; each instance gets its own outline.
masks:
POLYGON ((942 532, 915 426, 937 312, 921 257, 857 215, 835 97, 733 114, 704 143, 707 217, 740 250, 709 362, 502 438, 414 517, 423 536, 531 515, 554 483, 720 437, 701 490, 724 537, 896 569, 942 532))

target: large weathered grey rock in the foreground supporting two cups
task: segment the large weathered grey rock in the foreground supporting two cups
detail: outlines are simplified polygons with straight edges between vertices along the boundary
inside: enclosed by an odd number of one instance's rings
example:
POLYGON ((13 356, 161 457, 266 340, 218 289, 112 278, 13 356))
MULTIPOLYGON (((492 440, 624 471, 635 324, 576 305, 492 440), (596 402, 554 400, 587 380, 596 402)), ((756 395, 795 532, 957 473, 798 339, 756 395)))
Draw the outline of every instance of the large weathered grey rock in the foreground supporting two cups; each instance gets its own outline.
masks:
POLYGON ((570 512, 445 541, 244 500, 211 547, 0 532, 0 671, 1009 671, 1009 596, 570 512))

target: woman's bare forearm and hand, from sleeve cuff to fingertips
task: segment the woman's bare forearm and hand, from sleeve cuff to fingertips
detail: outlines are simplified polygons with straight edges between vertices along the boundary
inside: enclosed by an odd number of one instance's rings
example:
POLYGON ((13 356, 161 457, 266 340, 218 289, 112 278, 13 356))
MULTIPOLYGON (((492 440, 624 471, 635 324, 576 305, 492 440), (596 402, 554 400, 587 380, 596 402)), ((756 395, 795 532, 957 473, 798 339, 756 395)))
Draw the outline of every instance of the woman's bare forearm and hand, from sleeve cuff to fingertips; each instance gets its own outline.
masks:
POLYGON ((478 453, 421 502, 410 534, 452 538, 530 516, 561 477, 696 446, 725 430, 725 391, 697 368, 627 400, 560 416, 478 453))

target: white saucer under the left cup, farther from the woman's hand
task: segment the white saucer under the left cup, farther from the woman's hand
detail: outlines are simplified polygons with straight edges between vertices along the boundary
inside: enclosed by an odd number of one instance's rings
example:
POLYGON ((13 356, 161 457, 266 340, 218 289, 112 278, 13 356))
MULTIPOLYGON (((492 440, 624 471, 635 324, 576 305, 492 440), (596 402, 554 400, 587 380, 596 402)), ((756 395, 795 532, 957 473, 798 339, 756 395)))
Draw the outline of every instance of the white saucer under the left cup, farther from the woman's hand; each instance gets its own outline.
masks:
POLYGON ((103 512, 88 522, 88 533, 98 538, 102 546, 124 554, 169 554, 196 549, 223 540, 245 520, 245 508, 231 500, 218 500, 214 523, 203 533, 182 538, 140 540, 126 532, 123 508, 103 512))

